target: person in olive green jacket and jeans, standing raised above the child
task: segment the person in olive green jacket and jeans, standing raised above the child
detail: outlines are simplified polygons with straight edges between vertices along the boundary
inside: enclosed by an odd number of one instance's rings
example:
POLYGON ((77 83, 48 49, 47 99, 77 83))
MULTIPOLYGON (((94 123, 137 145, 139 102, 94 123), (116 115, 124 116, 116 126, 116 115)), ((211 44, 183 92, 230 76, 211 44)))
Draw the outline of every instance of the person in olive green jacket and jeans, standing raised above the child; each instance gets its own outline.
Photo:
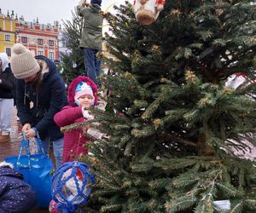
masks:
POLYGON ((84 0, 79 2, 78 14, 84 18, 84 28, 80 48, 84 50, 84 66, 87 76, 99 86, 97 77, 101 72, 101 60, 97 57, 102 51, 102 0, 91 0, 90 5, 84 0))

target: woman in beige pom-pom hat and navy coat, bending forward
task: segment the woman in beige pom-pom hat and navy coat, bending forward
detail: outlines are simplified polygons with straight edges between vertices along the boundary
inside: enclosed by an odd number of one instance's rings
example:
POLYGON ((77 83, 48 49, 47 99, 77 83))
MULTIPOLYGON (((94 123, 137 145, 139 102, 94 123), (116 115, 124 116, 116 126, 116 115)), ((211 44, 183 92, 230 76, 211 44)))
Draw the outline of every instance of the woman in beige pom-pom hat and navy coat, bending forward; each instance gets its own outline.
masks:
POLYGON ((53 142, 56 167, 62 162, 63 134, 54 122, 56 112, 67 105, 65 84, 55 64, 16 43, 12 49, 11 67, 17 80, 17 109, 26 137, 37 135, 48 151, 53 142))

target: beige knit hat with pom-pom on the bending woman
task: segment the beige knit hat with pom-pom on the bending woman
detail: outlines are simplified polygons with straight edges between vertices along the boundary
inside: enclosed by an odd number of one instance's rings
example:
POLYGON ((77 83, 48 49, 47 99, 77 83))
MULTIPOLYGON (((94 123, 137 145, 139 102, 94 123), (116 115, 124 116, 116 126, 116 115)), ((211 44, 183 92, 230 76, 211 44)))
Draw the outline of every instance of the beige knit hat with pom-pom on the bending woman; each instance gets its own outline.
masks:
POLYGON ((15 43, 12 48, 11 69, 15 78, 23 79, 39 72, 40 66, 31 51, 21 43, 15 43))

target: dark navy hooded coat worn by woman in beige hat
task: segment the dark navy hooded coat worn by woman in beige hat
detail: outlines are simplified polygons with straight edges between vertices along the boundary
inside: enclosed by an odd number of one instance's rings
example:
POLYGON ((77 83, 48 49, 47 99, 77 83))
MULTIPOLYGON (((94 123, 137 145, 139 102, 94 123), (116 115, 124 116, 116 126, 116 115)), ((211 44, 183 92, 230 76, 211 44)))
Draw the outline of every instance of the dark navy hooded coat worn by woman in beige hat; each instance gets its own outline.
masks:
POLYGON ((28 123, 36 127, 42 140, 49 135, 51 141, 55 141, 63 137, 54 122, 54 116, 67 105, 65 84, 51 60, 44 56, 36 56, 36 59, 44 60, 49 66, 49 72, 44 73, 39 91, 23 79, 17 80, 18 116, 21 124, 28 123))

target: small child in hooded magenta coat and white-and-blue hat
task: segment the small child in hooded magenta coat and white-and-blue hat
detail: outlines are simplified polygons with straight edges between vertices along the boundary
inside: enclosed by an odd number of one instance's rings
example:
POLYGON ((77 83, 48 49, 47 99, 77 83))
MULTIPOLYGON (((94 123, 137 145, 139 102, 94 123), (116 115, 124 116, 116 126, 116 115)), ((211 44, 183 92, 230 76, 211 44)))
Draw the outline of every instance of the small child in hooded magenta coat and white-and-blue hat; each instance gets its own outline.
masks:
MULTIPOLYGON (((81 123, 84 120, 93 118, 88 113, 90 107, 97 104, 97 87, 90 78, 79 76, 73 80, 68 88, 68 102, 70 106, 63 107, 61 112, 55 114, 55 123, 64 127, 69 124, 81 123)), ((90 132, 90 130, 88 130, 90 132)), ((92 131, 95 132, 96 131, 92 131)), ((102 134, 96 133, 95 137, 101 137, 102 134)), ((73 156, 87 154, 88 150, 83 147, 84 143, 89 141, 83 135, 82 129, 70 130, 64 134, 63 164, 73 161, 73 156)))

